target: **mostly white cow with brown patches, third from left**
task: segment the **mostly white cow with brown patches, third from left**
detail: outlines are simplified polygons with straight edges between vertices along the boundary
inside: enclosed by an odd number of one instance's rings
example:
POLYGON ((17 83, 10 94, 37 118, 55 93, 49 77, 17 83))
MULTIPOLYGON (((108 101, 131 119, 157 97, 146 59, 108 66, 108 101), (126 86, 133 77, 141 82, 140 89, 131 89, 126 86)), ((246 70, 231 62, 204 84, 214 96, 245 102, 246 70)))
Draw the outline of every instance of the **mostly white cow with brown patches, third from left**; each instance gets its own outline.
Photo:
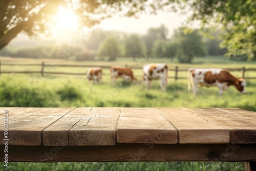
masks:
POLYGON ((168 66, 165 63, 149 64, 143 67, 146 87, 151 87, 152 79, 161 79, 161 88, 165 91, 168 78, 168 66))

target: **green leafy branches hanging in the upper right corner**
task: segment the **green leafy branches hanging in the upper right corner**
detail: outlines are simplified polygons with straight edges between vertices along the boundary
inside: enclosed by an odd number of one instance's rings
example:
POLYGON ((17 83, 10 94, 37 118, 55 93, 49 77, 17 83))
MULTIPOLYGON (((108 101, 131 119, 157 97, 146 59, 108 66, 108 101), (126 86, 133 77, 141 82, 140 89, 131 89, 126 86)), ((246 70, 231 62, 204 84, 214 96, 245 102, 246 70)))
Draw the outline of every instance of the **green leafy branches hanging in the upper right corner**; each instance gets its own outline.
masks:
MULTIPOLYGON (((185 2, 188 2, 185 1, 185 2)), ((228 56, 256 55, 256 2, 251 0, 204 0, 193 1, 192 19, 200 19, 203 26, 222 26, 222 47, 228 49, 228 56)))

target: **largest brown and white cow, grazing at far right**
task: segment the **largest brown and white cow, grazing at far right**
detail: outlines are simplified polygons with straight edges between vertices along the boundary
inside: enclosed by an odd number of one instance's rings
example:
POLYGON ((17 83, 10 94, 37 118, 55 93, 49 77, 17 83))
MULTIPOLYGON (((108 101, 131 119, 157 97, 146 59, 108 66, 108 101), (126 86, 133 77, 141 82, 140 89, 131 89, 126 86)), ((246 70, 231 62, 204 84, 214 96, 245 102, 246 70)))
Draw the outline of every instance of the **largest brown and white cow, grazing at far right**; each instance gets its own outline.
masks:
POLYGON ((236 78, 225 69, 189 69, 188 90, 193 85, 193 93, 196 95, 198 86, 216 86, 222 97, 223 91, 229 86, 235 86, 241 93, 245 94, 246 82, 244 78, 236 78))

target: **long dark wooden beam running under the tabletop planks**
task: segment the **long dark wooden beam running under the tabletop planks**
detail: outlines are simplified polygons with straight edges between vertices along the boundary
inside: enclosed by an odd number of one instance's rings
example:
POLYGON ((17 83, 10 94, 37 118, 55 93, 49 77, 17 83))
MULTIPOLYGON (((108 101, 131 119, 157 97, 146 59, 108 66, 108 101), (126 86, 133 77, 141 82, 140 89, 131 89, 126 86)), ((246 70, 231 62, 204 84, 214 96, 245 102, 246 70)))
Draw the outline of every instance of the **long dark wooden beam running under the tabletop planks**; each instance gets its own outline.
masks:
MULTIPOLYGON (((4 145, 0 145, 3 149, 4 145)), ((0 153, 0 161, 4 153, 0 153)), ((124 161, 251 161, 255 144, 115 144, 110 146, 8 147, 8 161, 124 162, 124 161)))

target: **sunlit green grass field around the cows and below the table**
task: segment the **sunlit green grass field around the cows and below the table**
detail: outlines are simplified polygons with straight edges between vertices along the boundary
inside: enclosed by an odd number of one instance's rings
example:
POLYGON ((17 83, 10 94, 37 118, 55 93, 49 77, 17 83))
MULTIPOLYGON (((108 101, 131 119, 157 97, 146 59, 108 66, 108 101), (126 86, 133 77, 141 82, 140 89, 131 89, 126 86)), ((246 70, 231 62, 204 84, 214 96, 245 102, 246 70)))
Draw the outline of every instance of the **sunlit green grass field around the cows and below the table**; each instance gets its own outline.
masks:
MULTIPOLYGON (((212 68, 256 68, 256 62, 229 61, 223 57, 198 58, 193 64, 179 64, 168 59, 142 59, 133 62, 131 59, 109 61, 61 61, 44 59, 20 59, 4 57, 1 62, 18 63, 53 63, 51 72, 85 73, 84 68, 64 68, 58 65, 77 64, 93 66, 128 65, 142 67, 145 63, 165 62, 169 68, 212 67, 212 68)), ((40 71, 40 67, 1 66, 1 71, 40 71)), ((256 79, 246 80, 247 94, 242 95, 234 87, 229 87, 220 98, 217 88, 201 88, 197 96, 187 90, 186 79, 168 79, 166 92, 160 90, 160 82, 154 81, 151 89, 145 89, 142 71, 134 70, 138 81, 127 83, 118 79, 113 86, 110 81, 109 69, 103 70, 103 79, 99 84, 88 82, 86 75, 51 75, 46 74, 1 74, 0 106, 26 107, 225 107, 242 108, 256 111, 256 79)), ((231 72, 241 77, 241 71, 231 72)), ((179 72, 179 77, 186 77, 186 72, 179 72)), ((255 76, 255 71, 246 72, 246 77, 255 76)), ((174 72, 169 71, 169 76, 174 72)), ((9 170, 244 170, 240 162, 123 162, 123 163, 10 163, 9 170)), ((0 170, 3 170, 0 165, 0 170)))

